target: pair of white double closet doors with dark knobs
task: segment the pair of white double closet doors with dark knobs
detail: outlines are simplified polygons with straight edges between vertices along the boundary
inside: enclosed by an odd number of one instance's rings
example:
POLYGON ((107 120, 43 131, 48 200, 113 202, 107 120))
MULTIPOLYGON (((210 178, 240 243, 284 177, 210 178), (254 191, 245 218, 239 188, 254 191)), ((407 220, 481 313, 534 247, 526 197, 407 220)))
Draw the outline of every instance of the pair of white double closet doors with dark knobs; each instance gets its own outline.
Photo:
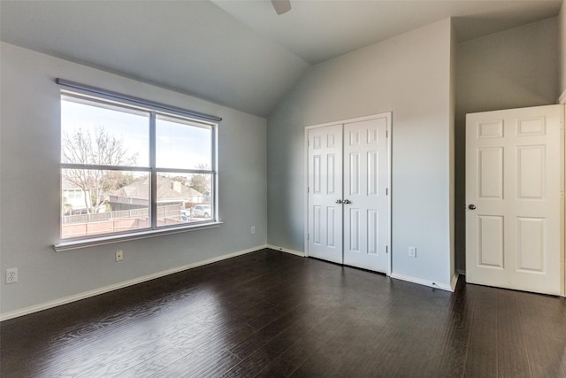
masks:
POLYGON ((308 130, 311 257, 388 273, 391 114, 308 130))

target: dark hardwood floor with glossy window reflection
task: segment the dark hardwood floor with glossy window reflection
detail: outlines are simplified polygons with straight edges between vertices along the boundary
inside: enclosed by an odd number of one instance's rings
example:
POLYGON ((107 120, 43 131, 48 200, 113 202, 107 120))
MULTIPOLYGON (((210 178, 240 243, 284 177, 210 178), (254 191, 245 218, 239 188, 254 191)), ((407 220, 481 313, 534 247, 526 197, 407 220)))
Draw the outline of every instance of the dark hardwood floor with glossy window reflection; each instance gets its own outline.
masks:
POLYGON ((264 250, 0 324, 2 377, 563 377, 566 304, 264 250))

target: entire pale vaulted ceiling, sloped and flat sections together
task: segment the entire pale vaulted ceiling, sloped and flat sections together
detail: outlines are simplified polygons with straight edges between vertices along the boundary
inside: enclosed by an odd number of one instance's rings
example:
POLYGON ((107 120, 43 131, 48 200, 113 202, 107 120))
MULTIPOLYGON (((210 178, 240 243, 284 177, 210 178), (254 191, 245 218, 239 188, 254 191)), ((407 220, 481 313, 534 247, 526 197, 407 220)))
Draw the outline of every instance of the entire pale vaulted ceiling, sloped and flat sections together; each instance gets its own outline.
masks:
POLYGON ((0 1, 0 39, 267 116, 311 66, 447 17, 458 41, 562 0, 0 1))

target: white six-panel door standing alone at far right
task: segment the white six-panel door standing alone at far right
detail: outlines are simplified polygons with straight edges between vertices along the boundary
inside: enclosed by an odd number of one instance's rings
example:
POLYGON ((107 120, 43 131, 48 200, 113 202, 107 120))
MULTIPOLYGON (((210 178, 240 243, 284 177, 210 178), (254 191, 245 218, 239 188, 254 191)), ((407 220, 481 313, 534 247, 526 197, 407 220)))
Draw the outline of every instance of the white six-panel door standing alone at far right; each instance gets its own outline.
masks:
POLYGON ((467 282, 561 294, 562 120, 562 105, 467 115, 467 282))

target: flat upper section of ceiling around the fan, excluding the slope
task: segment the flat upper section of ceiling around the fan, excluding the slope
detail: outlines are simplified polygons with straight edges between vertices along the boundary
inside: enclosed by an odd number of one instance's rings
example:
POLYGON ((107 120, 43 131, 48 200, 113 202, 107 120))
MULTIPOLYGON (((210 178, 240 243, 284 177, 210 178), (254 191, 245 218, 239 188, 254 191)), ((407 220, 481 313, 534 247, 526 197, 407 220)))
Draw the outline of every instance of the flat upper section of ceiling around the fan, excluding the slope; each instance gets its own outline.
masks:
POLYGON ((312 65, 432 22, 455 17, 458 41, 555 16, 562 1, 291 0, 278 16, 269 1, 211 0, 235 19, 312 65))

